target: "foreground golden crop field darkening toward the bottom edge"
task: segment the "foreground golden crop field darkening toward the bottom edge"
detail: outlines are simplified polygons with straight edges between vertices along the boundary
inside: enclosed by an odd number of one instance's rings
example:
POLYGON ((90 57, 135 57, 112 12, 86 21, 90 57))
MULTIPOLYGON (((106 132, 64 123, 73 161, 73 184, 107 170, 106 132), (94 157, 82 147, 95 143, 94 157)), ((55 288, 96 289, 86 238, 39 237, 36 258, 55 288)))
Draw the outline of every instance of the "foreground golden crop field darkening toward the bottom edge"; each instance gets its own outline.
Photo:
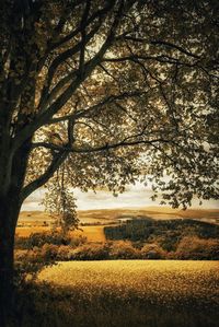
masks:
POLYGON ((38 280, 51 288, 37 293, 41 326, 218 326, 219 262, 58 262, 38 280))

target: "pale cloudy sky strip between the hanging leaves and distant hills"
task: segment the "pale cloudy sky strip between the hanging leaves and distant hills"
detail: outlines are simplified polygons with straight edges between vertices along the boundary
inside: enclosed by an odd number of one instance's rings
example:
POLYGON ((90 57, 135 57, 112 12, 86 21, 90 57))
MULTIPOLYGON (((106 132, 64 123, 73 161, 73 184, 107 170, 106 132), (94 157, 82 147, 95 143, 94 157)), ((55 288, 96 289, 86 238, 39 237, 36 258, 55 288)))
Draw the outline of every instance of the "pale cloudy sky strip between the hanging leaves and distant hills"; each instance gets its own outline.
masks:
MULTIPOLYGON (((41 205, 44 197, 44 189, 35 191, 24 202, 23 211, 38 211, 44 210, 41 205)), ((113 209, 113 208, 142 208, 150 206, 159 206, 158 201, 152 201, 150 197, 152 191, 138 183, 135 186, 127 187, 127 190, 114 197, 111 192, 100 190, 94 194, 93 191, 82 192, 79 189, 74 189, 74 197, 77 198, 78 210, 92 210, 92 209, 113 209)), ((208 200, 204 201, 203 206, 198 206, 198 200, 194 200, 193 208, 199 209, 219 209, 219 201, 208 200)))

